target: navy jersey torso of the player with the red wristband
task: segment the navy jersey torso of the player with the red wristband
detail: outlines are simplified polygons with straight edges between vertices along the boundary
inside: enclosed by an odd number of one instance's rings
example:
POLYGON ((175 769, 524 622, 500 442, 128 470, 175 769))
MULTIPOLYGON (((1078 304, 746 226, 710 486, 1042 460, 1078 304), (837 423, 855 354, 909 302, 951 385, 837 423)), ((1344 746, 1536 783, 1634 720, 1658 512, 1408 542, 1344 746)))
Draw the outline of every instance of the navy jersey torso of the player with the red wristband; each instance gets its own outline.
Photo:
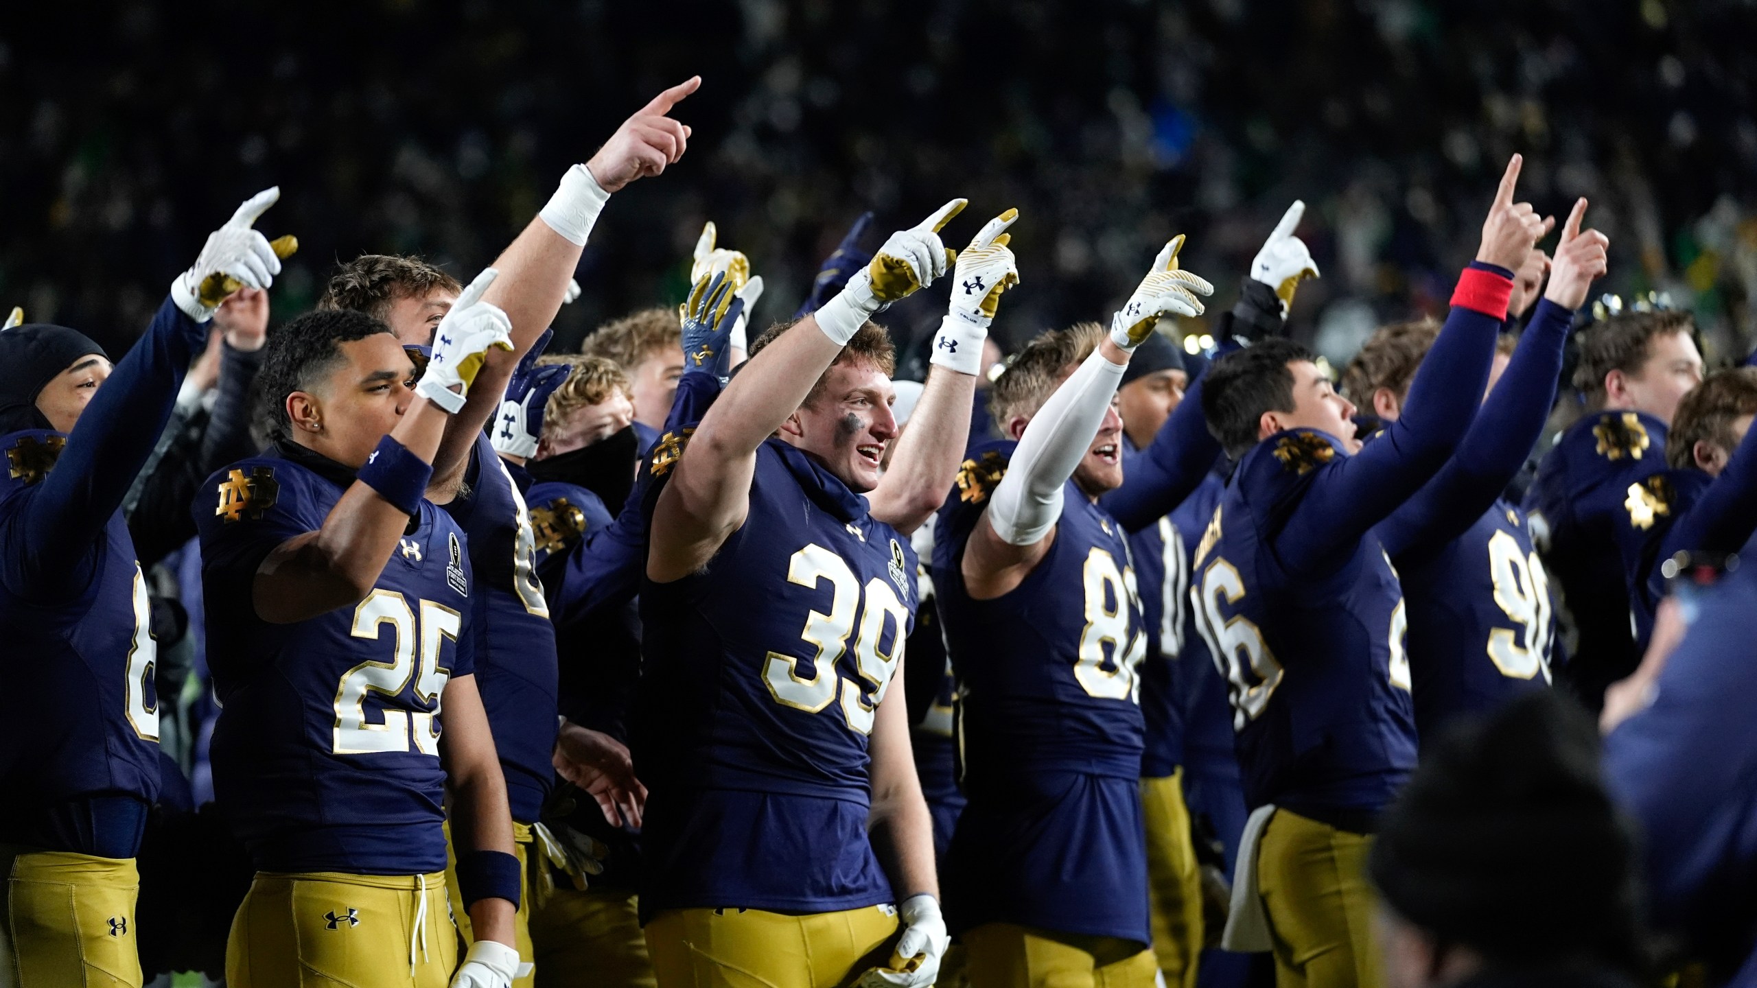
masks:
POLYGON ((1277 552, 1307 489, 1349 459, 1311 429, 1258 443, 1197 547, 1189 596, 1232 684, 1246 802, 1362 830, 1416 763, 1397 571, 1370 531, 1314 573, 1277 552))

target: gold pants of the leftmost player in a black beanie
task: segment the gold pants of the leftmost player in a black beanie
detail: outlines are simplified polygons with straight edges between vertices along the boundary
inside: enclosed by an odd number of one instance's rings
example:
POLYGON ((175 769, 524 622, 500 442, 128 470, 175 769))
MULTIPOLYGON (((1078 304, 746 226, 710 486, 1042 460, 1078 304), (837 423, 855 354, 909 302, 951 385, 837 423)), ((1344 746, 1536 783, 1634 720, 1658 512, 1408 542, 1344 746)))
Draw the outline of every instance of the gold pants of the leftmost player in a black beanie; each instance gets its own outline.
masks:
POLYGON ((134 858, 0 846, 0 988, 141 988, 134 858))

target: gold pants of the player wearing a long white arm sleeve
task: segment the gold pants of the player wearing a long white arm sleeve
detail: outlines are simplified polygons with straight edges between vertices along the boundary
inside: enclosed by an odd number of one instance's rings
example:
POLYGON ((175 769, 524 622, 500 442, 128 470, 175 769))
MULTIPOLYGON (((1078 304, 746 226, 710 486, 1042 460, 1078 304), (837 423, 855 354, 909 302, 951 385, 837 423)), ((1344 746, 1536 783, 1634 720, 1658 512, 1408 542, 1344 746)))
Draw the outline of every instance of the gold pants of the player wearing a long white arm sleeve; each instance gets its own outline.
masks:
POLYGON ((1139 941, 984 923, 963 935, 970 988, 1154 988, 1160 963, 1139 941))

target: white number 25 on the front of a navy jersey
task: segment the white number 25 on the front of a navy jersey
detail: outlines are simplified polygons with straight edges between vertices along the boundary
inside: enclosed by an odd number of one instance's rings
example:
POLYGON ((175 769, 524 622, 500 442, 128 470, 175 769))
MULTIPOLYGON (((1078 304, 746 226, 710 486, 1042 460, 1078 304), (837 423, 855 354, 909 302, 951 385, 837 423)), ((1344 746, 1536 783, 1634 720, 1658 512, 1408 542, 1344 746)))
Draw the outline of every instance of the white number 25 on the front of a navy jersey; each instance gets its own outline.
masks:
POLYGON ((457 642, 462 617, 450 607, 420 601, 420 621, 402 594, 374 589, 353 608, 355 638, 381 640, 381 626, 392 631, 392 661, 364 661, 341 677, 336 687, 334 754, 376 754, 415 749, 422 754, 439 754, 439 696, 452 670, 439 665, 439 649, 450 638, 457 642), (420 645, 420 661, 415 649, 420 645), (418 668, 416 668, 418 666, 418 668), (383 723, 365 719, 365 694, 397 696, 415 680, 415 696, 432 703, 432 710, 385 710, 383 723))

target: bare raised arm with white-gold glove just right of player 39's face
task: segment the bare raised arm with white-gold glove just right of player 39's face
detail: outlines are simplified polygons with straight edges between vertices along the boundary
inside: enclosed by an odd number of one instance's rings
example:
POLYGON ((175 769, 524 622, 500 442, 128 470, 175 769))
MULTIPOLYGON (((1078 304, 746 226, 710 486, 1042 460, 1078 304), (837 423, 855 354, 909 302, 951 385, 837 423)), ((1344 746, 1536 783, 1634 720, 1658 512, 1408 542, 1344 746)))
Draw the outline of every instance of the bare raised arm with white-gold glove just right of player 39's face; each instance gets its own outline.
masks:
POLYGON ((1017 209, 994 216, 958 255, 952 304, 933 339, 928 385, 896 443, 891 466, 866 496, 871 515, 903 534, 921 527, 945 503, 963 462, 977 374, 982 373, 982 343, 1001 292, 1019 283, 1019 265, 1007 250, 1012 237, 1007 227, 1017 218, 1017 209))

